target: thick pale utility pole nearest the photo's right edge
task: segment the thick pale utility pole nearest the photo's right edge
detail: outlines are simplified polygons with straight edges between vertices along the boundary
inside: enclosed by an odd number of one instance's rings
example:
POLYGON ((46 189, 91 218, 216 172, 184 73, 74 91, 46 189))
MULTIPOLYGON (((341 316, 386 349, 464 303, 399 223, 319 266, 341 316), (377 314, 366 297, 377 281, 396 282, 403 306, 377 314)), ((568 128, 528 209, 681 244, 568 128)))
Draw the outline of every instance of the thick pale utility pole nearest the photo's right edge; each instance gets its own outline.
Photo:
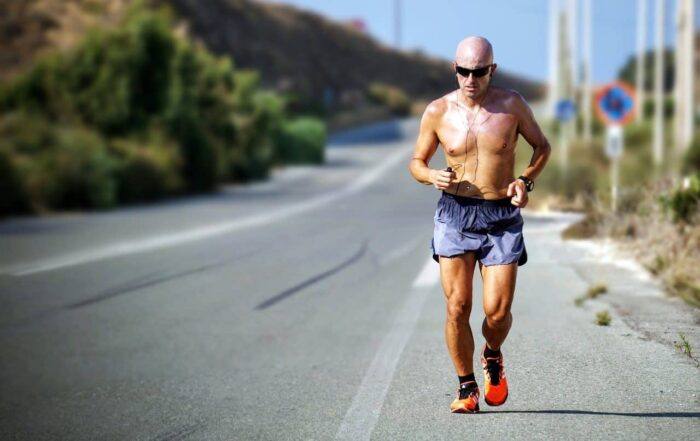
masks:
POLYGON ((693 1, 678 0, 676 15, 676 78, 674 111, 674 145, 682 155, 693 136, 693 1))

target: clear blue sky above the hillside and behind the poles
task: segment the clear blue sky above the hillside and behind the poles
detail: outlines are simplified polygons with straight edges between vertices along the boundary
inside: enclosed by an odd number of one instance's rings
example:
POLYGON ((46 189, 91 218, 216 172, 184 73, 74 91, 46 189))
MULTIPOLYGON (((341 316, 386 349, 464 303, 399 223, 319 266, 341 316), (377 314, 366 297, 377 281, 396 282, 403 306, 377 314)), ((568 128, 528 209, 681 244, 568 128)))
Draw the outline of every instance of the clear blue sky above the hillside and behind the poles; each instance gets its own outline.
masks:
MULTIPOLYGON (((395 0, 276 0, 312 10, 331 19, 364 20, 367 32, 394 44, 395 0)), ((451 60, 459 41, 468 35, 488 38, 499 68, 525 77, 546 80, 549 0, 402 0, 403 49, 420 49, 451 60)), ((638 0, 591 0, 593 82, 605 83, 636 51, 638 0)), ((675 41, 676 0, 662 0, 666 10, 666 44, 675 41)), ((566 1, 562 2, 567 3, 566 1)), ((579 0, 579 8, 583 1, 579 0)), ((647 47, 654 47, 654 8, 647 0, 647 47)), ((696 20, 698 22, 696 7, 696 20)), ((582 20, 579 12, 579 23, 582 20)), ((579 32, 581 30, 579 24, 579 32)), ((579 39, 580 42, 580 39, 579 39)), ((582 48, 579 48, 579 54, 582 48)), ((580 55, 579 55, 580 56, 580 55)))

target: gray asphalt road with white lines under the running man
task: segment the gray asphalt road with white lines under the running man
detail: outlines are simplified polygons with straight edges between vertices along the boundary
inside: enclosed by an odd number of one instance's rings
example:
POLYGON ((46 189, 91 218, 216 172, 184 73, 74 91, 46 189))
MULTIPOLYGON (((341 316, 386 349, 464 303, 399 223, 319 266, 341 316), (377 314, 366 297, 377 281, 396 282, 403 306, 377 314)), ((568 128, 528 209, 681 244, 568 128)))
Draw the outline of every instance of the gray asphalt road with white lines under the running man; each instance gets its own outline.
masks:
POLYGON ((697 368, 574 306, 591 257, 564 215, 526 215, 508 402, 449 412, 415 133, 354 131, 323 167, 211 196, 1 222, 0 439, 697 439, 697 368))

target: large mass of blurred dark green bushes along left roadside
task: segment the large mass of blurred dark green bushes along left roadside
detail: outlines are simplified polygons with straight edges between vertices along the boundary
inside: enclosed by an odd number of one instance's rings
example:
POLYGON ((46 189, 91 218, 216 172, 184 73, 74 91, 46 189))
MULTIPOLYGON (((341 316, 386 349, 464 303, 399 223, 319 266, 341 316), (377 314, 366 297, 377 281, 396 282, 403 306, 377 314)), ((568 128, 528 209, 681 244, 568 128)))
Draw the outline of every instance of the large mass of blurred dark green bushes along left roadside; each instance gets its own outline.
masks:
MULTIPOLYGON (((93 30, 0 84, 2 185, 24 183, 27 206, 208 191, 264 178, 278 160, 285 100, 262 92, 257 73, 177 37, 166 13, 137 4, 118 28, 93 30)), ((19 207, 6 199, 3 207, 19 207)))

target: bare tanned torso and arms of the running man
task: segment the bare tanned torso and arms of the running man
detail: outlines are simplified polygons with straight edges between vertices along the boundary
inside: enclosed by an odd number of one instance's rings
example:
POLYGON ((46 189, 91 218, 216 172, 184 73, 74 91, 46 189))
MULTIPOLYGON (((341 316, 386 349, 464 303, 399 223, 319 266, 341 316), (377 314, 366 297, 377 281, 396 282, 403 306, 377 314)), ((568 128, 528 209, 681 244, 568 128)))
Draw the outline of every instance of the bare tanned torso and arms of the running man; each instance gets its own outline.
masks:
MULTIPOLYGON (((530 179, 541 169, 538 147, 544 147, 546 139, 517 92, 489 86, 480 105, 471 108, 460 95, 460 90, 455 90, 428 105, 413 159, 422 160, 427 168, 442 145, 447 165, 453 170, 449 185, 443 188, 446 192, 483 199, 508 197, 509 185, 515 180, 518 135, 535 150, 530 167, 524 171, 530 179)), ((435 183, 429 176, 425 180, 420 179, 420 173, 414 176, 424 184, 435 183)))

